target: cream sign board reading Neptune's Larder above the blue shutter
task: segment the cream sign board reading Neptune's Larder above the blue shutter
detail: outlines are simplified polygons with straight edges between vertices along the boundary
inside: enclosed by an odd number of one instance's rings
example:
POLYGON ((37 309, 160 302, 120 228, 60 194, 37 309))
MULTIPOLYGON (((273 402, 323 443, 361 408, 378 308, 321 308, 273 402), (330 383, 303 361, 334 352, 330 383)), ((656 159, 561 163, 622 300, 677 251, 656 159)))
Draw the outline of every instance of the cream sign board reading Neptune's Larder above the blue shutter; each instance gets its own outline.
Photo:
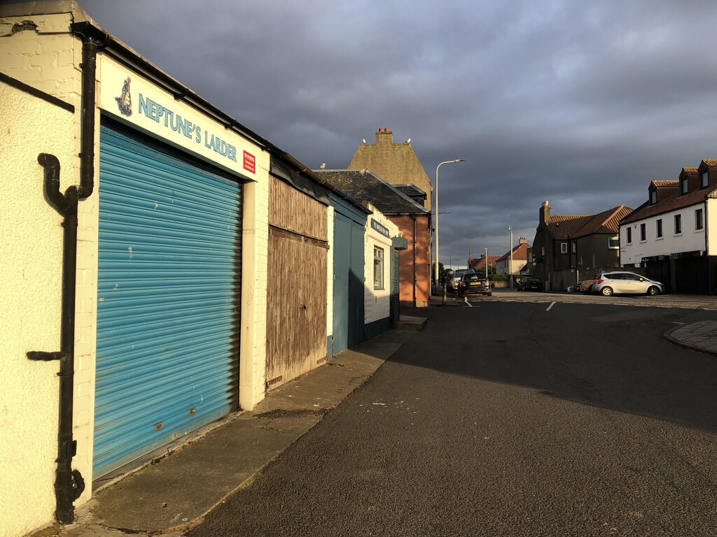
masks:
POLYGON ((269 155, 207 115, 105 55, 99 56, 100 99, 105 112, 222 168, 255 178, 269 155))

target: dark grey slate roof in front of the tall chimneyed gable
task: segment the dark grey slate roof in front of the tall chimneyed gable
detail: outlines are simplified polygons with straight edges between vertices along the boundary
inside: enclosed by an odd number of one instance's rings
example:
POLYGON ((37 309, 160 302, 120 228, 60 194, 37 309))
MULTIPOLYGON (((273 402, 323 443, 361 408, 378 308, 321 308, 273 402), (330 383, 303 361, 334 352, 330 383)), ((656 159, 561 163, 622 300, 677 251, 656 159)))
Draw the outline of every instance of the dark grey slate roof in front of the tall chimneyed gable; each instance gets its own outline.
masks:
POLYGON ((352 198, 366 200, 386 216, 427 215, 430 209, 416 203, 394 185, 389 185, 371 170, 313 170, 321 178, 352 198))

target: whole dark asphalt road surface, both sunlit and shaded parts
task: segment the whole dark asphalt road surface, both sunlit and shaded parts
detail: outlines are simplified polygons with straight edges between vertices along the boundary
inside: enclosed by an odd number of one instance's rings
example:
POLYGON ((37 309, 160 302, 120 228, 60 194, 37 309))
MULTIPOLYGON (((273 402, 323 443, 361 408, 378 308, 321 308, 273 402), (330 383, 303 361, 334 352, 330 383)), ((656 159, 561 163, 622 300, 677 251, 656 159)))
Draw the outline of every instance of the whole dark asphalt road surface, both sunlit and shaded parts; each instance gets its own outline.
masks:
POLYGON ((717 312, 409 313, 424 330, 189 536, 717 535, 717 359, 662 337, 717 312))

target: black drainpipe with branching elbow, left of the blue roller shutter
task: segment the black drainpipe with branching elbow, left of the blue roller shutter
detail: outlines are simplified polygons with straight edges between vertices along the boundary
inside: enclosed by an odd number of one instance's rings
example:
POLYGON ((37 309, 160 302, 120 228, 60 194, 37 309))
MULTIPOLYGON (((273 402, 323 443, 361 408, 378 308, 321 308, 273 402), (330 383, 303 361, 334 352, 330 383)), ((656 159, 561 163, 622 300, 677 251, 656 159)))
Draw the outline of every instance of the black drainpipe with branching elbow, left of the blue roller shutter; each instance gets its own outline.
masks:
POLYGON ((40 153, 37 162, 44 168, 44 189, 49 204, 65 219, 62 238, 62 322, 60 352, 31 351, 31 360, 60 360, 60 412, 57 425, 57 469, 54 493, 57 521, 70 524, 75 520, 73 502, 85 490, 79 470, 72 470, 77 441, 72 439, 73 390, 75 384, 75 289, 77 269, 77 201, 92 195, 95 188, 95 74, 97 52, 108 40, 107 34, 90 24, 73 24, 72 30, 82 37, 82 112, 80 116, 80 185, 60 193, 60 161, 54 155, 40 153))

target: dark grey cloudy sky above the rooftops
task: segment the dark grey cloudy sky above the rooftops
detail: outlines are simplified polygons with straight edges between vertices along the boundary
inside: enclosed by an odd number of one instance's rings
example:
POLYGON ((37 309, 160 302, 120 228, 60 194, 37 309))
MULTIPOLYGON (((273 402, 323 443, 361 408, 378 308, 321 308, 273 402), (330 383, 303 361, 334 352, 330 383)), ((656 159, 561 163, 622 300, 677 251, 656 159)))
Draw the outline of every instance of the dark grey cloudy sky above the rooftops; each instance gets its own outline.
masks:
POLYGON ((538 209, 637 207, 717 158, 713 0, 82 1, 311 168, 379 127, 440 169, 440 257, 532 242, 538 209))

